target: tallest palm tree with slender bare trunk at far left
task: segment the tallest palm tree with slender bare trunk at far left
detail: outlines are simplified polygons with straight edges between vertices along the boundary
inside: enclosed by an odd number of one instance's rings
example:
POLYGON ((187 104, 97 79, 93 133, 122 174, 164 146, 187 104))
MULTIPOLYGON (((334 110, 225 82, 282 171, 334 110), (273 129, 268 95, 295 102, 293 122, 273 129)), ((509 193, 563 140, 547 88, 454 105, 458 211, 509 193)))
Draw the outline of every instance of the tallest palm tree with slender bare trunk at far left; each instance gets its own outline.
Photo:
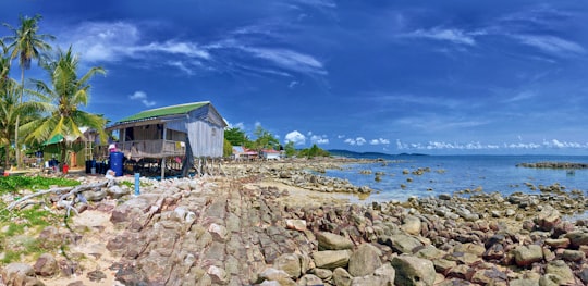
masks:
MULTIPOLYGON (((19 58, 19 65, 21 66, 21 85, 24 87, 24 71, 30 69, 30 62, 33 59, 41 60, 42 52, 51 50, 51 46, 45 40, 54 39, 51 35, 37 34, 38 22, 41 20, 41 15, 35 15, 34 17, 20 16, 21 25, 16 28, 4 23, 13 35, 5 37, 4 39, 11 42, 8 48, 12 51, 10 53, 11 59, 19 58)), ((23 102, 24 88, 21 90, 19 103, 23 102)), ((19 124, 20 116, 16 116, 16 125, 14 126, 14 145, 16 147, 16 164, 21 167, 21 154, 19 146, 19 124)))

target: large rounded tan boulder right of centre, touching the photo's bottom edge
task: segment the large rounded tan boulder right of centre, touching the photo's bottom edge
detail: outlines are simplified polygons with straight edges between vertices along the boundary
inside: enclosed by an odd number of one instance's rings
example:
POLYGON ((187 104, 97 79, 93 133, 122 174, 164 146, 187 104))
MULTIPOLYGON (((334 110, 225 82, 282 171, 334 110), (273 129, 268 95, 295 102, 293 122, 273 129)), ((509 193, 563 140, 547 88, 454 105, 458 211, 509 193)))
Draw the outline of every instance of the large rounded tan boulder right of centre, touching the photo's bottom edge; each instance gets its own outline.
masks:
POLYGON ((431 286, 434 283, 434 266, 430 260, 411 256, 392 259, 395 270, 394 284, 406 286, 431 286))

